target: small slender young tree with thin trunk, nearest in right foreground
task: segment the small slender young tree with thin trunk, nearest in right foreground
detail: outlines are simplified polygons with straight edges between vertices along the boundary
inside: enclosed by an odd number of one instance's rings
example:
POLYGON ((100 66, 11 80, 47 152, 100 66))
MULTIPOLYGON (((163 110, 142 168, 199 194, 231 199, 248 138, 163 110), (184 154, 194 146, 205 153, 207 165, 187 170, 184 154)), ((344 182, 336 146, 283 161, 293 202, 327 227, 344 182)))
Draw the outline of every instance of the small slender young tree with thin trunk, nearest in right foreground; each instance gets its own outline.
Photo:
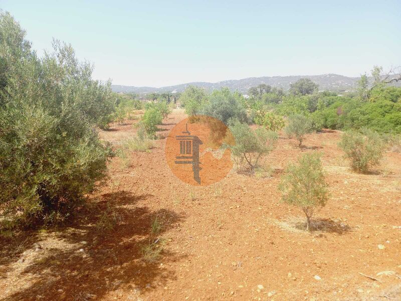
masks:
POLYGON ((298 162, 288 165, 279 189, 283 194, 283 202, 303 210, 306 215, 306 229, 310 230, 314 211, 327 202, 327 184, 319 154, 304 154, 298 162))

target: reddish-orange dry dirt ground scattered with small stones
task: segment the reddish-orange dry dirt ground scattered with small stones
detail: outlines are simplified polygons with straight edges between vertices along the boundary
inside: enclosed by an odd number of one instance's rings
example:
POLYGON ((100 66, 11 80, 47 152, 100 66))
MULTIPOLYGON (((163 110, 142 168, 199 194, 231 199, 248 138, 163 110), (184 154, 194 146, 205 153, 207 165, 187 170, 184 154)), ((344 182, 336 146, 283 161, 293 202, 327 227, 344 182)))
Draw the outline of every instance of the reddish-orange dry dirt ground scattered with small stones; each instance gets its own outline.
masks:
MULTIPOLYGON (((164 156, 163 137, 184 117, 174 110, 151 152, 132 152, 128 167, 113 158, 72 225, 2 238, 0 300, 401 300, 401 154, 386 152, 377 171, 359 175, 337 147, 340 132, 310 134, 304 148, 281 134, 270 177, 231 171, 193 187, 164 156), (286 164, 313 150, 331 196, 309 233, 277 187, 286 164), (105 213, 109 231, 97 226, 105 213), (155 217, 164 218, 163 251, 148 263, 141 250, 155 217)), ((118 145, 135 122, 101 136, 118 145)))

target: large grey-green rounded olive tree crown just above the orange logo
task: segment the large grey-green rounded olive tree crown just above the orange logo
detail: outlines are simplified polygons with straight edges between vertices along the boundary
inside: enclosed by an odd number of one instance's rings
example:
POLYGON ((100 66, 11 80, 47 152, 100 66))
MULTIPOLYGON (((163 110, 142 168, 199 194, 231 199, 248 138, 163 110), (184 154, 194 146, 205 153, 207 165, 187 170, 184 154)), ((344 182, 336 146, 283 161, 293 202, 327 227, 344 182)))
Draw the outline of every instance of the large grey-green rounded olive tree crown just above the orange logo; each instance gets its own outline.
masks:
POLYGON ((215 117, 228 124, 230 119, 248 122, 247 111, 243 106, 244 97, 228 88, 215 90, 209 95, 209 101, 204 105, 201 113, 215 117))

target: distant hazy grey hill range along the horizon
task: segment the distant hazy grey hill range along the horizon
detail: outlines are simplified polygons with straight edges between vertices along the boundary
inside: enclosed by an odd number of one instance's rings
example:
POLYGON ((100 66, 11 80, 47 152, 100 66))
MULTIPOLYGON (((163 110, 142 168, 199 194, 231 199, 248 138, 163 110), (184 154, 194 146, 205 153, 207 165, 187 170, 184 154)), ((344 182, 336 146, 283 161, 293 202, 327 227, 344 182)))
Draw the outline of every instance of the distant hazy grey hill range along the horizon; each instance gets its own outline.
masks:
POLYGON ((319 85, 319 90, 330 91, 349 91, 354 90, 359 77, 347 77, 338 74, 322 74, 322 75, 295 75, 295 76, 263 76, 263 77, 249 77, 238 80, 225 80, 217 83, 208 82, 192 82, 180 84, 175 86, 167 86, 161 88, 153 87, 134 87, 134 86, 120 86, 112 85, 114 92, 134 92, 134 93, 149 93, 149 92, 182 92, 187 86, 194 85, 205 88, 208 91, 228 87, 232 91, 239 91, 246 93, 250 87, 259 84, 268 84, 272 87, 283 88, 288 90, 290 84, 296 82, 300 78, 310 78, 312 81, 319 85))

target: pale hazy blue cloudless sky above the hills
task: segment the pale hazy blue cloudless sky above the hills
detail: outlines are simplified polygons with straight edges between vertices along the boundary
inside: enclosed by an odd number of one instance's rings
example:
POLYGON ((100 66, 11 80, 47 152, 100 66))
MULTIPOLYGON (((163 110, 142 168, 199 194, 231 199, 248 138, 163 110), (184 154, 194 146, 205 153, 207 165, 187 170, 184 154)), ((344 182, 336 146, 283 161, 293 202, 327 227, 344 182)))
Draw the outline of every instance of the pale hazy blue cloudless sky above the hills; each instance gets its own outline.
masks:
POLYGON ((38 54, 52 37, 113 84, 165 86, 401 65, 396 1, 0 0, 38 54))

